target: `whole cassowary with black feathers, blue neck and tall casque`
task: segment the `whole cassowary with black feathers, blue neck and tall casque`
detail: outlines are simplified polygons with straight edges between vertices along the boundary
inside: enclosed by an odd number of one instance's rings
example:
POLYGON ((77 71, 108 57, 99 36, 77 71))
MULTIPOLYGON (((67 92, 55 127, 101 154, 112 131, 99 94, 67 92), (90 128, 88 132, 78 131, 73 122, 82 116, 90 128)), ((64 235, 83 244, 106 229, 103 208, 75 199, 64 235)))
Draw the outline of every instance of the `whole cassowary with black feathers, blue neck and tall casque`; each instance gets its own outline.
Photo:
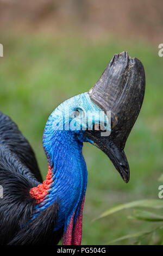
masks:
POLYGON ((104 151, 128 182, 124 146, 144 93, 140 60, 127 52, 115 54, 89 92, 66 100, 49 116, 43 133, 48 161, 43 182, 28 141, 0 113, 1 245, 56 245, 61 238, 63 245, 80 245, 87 185, 83 142, 104 151))

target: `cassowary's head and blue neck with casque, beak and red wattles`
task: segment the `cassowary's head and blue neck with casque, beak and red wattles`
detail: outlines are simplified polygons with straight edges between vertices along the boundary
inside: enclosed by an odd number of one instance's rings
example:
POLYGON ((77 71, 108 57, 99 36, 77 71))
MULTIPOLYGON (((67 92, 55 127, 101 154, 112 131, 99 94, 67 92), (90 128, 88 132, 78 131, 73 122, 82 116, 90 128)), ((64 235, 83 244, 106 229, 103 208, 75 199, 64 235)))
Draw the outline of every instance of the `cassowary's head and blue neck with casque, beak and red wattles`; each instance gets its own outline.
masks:
POLYGON ((129 165, 124 146, 139 115, 144 93, 142 63, 122 52, 115 54, 89 92, 61 103, 49 117, 43 146, 56 184, 59 180, 54 189, 56 186, 63 189, 62 195, 56 192, 53 197, 61 205, 57 228, 64 222, 65 244, 78 244, 77 236, 82 232, 81 216, 87 182, 83 142, 101 149, 122 179, 128 182, 129 165), (59 168, 62 174, 57 172, 59 168))

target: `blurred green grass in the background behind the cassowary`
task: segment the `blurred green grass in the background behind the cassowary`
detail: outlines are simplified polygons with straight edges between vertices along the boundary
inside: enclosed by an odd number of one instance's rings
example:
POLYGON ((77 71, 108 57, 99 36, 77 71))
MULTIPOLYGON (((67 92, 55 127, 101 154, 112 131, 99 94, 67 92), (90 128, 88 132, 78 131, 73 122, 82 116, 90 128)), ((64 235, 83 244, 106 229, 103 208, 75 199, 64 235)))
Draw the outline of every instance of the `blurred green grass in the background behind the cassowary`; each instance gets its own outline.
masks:
MULTIPOLYGON (((146 71, 146 93, 138 120, 126 144, 130 182, 125 184, 99 149, 84 145, 88 186, 83 216, 83 244, 104 244, 119 236, 148 230, 148 223, 128 220, 128 211, 92 222, 116 204, 158 198, 162 172, 162 59, 145 43, 105 40, 92 42, 74 36, 1 36, 0 109, 17 124, 32 145, 45 178, 47 161, 42 134, 49 114, 68 97, 87 92, 101 76, 114 53, 127 50, 140 58, 146 71)), ((128 244, 132 240, 123 240, 128 244)))

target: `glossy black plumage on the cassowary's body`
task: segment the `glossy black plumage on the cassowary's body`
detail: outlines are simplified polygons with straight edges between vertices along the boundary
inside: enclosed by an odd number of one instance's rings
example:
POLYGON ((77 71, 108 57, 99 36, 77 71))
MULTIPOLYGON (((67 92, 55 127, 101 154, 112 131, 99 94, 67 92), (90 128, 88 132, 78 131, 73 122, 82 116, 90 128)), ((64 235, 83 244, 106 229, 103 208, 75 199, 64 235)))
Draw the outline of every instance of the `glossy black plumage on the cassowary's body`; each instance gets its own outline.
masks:
POLYGON ((40 170, 28 141, 0 112, 0 245, 55 245, 61 239, 63 230, 53 231, 58 203, 29 222, 36 203, 29 190, 40 182, 40 170))

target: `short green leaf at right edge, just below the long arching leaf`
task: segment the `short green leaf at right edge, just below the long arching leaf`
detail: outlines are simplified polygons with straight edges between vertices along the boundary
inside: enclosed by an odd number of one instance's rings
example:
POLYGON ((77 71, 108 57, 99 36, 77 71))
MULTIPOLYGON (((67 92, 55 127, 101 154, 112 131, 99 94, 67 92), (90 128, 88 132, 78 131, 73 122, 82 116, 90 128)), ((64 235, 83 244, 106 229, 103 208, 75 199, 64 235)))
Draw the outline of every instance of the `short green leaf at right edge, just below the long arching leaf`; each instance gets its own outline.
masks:
POLYGON ((153 212, 141 210, 135 210, 134 214, 130 217, 142 221, 163 221, 163 216, 154 214, 153 212))

